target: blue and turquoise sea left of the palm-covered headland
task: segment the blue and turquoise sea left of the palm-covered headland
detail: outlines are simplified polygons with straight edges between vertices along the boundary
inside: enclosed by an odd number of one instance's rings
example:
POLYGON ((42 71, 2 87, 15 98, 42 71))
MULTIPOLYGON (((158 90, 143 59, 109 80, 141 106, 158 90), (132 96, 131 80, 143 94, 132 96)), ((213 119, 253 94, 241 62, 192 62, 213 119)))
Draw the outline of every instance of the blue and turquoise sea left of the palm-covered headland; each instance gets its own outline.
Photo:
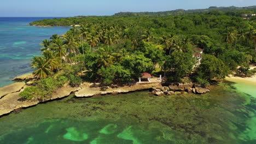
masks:
POLYGON ((39 44, 69 27, 34 27, 28 23, 53 17, 0 17, 0 87, 15 76, 31 73, 31 58, 40 55, 39 44))

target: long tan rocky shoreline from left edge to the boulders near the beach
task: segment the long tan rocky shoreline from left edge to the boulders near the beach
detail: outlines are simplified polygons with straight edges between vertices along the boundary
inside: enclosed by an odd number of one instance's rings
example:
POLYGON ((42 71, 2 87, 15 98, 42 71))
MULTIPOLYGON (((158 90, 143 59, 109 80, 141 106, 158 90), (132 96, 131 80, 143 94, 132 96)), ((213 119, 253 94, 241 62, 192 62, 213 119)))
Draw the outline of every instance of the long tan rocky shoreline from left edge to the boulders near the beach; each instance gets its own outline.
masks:
POLYGON ((170 86, 162 86, 161 81, 156 82, 137 82, 131 86, 113 86, 102 87, 100 83, 83 83, 80 87, 64 86, 58 89, 53 95, 44 99, 26 100, 19 97, 19 93, 24 91, 33 83, 33 75, 22 75, 15 77, 15 82, 9 86, 0 88, 0 116, 7 115, 17 109, 30 107, 43 103, 45 101, 68 97, 74 93, 77 98, 93 97, 95 95, 129 93, 136 91, 150 90, 155 95, 173 95, 183 93, 202 94, 209 92, 208 88, 201 88, 193 85, 193 83, 171 83, 170 86), (22 82, 21 82, 22 81, 22 82), (25 81, 25 82, 24 82, 25 81))

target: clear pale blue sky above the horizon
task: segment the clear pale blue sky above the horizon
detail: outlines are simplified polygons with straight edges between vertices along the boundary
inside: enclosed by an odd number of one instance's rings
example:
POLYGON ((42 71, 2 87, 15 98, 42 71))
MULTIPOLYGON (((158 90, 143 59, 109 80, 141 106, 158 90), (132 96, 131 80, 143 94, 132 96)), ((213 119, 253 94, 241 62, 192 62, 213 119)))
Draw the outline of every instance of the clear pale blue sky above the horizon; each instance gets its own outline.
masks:
POLYGON ((187 10, 232 5, 256 5, 256 0, 2 0, 0 16, 113 15, 120 11, 187 10))

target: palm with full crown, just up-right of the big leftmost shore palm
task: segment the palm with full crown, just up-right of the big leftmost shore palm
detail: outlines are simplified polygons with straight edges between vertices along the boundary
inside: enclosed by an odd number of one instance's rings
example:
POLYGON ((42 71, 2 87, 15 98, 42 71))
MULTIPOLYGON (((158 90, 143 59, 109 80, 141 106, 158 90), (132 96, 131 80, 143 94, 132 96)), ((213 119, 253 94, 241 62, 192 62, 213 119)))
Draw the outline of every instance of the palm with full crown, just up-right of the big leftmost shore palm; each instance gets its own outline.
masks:
POLYGON ((62 61, 65 61, 66 56, 66 44, 63 43, 61 38, 57 38, 53 44, 54 52, 57 56, 61 57, 62 61))

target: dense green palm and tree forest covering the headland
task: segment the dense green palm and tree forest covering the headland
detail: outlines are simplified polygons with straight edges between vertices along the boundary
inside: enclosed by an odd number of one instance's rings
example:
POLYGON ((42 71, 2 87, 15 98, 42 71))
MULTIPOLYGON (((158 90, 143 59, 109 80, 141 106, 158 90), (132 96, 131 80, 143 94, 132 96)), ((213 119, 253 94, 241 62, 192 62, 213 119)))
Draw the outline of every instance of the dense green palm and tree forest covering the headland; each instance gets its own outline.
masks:
POLYGON ((212 11, 159 17, 69 17, 31 25, 80 25, 43 41, 43 56, 32 59, 40 81, 60 75, 71 86, 79 86, 82 80, 110 85, 135 81, 141 73, 154 71, 170 82, 190 77, 207 86, 211 79, 231 73, 252 74, 248 65, 256 63, 253 17, 245 20, 212 11), (196 47, 203 49, 203 56, 201 65, 193 68, 196 47))

